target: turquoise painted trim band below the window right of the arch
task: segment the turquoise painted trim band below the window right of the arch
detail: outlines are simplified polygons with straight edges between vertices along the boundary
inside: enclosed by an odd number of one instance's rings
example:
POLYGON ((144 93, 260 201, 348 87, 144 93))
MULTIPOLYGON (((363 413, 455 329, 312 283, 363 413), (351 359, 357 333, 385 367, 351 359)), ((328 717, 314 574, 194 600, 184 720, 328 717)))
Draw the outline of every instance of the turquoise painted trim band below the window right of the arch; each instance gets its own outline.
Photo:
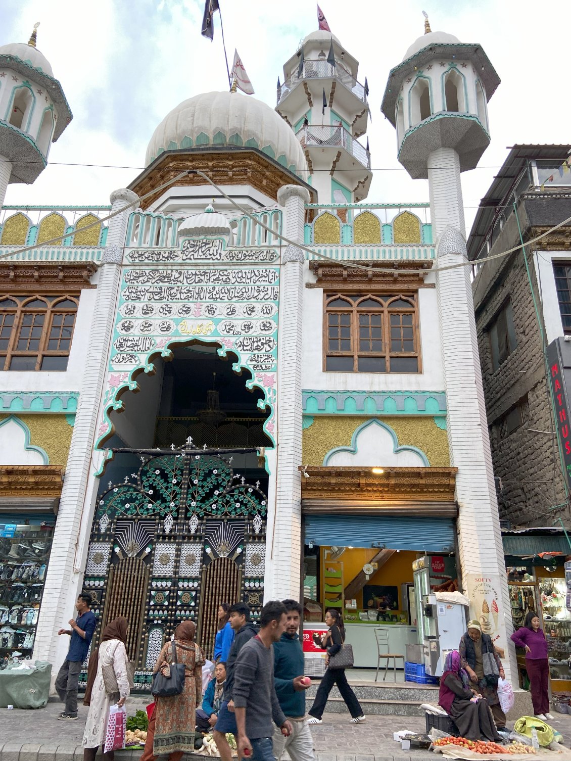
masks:
POLYGON ((304 415, 428 415, 446 413, 444 391, 301 390, 304 415))

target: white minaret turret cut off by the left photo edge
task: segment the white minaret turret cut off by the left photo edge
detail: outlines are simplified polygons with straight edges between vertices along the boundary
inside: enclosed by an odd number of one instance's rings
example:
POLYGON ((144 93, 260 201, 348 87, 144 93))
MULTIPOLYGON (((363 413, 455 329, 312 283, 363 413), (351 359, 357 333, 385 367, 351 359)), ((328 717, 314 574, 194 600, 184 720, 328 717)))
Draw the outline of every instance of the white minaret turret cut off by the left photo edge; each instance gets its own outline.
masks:
POLYGON ((0 46, 0 206, 10 183, 33 183, 46 168, 49 147, 72 120, 62 85, 37 49, 37 27, 27 45, 0 46))

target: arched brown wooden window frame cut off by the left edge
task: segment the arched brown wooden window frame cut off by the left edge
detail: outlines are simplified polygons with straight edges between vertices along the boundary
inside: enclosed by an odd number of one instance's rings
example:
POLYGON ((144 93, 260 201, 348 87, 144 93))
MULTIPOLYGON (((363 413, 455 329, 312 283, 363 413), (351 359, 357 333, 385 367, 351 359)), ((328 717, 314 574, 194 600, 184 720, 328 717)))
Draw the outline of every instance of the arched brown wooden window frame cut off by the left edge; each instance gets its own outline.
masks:
MULTIPOLYGON (((56 293, 56 294, 42 294, 42 293, 3 293, 0 295, 0 315, 14 314, 14 323, 11 325, 11 333, 8 338, 8 346, 6 349, 0 349, 0 371, 5 372, 65 372, 67 370, 67 363, 65 368, 59 369, 45 369, 42 370, 42 363, 46 357, 69 357, 69 353, 72 349, 73 334, 75 333, 75 323, 77 322, 77 314, 79 307, 79 294, 78 293, 56 293), (3 307, 3 304, 7 300, 15 301, 18 307, 3 307), (33 301, 43 301, 44 307, 27 307, 27 304, 33 301), (75 309, 71 307, 60 307, 58 304, 62 304, 64 301, 72 301, 75 304, 75 309), (41 327, 41 333, 38 338, 37 351, 22 351, 18 350, 18 340, 21 336, 21 330, 24 326, 25 315, 43 315, 43 325, 41 327), (72 314, 74 317, 72 324, 72 332, 69 337, 69 349, 48 349, 50 333, 53 327, 53 318, 56 314, 72 314), (18 370, 17 368, 10 369, 12 358, 14 357, 36 357, 35 366, 33 369, 18 370)), ((57 326, 56 326, 57 327, 57 326)), ((61 340, 62 330, 59 330, 59 340, 61 340)), ((65 339, 67 340, 67 339, 65 339)))

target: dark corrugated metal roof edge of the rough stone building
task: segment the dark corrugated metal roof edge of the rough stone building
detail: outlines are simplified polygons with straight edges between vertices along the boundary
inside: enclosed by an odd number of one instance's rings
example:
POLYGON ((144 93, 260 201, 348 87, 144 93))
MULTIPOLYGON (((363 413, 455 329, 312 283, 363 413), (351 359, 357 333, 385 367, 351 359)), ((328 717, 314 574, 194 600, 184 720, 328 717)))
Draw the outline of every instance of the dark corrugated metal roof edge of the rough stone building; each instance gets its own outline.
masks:
POLYGON ((530 159, 550 159, 553 161, 567 158, 571 145, 513 145, 509 150, 508 158, 500 167, 498 174, 493 178, 486 195, 480 201, 480 207, 476 212, 474 224, 467 240, 467 253, 469 260, 475 260, 482 247, 486 236, 490 231, 496 217, 497 207, 503 205, 515 180, 530 159))

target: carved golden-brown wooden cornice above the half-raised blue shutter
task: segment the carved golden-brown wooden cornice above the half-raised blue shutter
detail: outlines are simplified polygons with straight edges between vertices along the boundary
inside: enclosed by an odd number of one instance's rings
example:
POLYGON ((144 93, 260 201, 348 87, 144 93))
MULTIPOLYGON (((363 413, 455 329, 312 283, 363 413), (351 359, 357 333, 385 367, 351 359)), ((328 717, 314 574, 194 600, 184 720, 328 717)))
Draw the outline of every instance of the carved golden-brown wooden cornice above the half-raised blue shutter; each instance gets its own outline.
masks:
POLYGON ((312 502, 315 511, 321 511, 327 501, 331 509, 336 503, 343 503, 345 507, 365 512, 375 507, 385 509, 387 502, 394 501, 402 503, 404 509, 411 501, 455 505, 458 468, 388 467, 378 474, 364 467, 301 466, 299 470, 305 511, 311 508, 312 502))

